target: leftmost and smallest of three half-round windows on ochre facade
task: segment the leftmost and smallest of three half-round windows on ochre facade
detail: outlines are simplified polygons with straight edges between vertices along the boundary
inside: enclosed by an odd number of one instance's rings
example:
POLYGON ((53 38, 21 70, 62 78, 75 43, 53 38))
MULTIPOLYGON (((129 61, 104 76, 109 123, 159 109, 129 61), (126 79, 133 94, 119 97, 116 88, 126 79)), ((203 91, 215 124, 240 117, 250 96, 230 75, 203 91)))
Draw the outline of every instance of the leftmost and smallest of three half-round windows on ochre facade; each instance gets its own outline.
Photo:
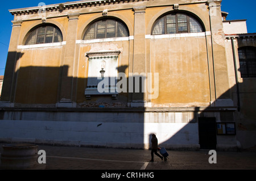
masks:
POLYGON ((56 43, 63 41, 59 28, 53 25, 43 25, 30 32, 25 45, 56 43))

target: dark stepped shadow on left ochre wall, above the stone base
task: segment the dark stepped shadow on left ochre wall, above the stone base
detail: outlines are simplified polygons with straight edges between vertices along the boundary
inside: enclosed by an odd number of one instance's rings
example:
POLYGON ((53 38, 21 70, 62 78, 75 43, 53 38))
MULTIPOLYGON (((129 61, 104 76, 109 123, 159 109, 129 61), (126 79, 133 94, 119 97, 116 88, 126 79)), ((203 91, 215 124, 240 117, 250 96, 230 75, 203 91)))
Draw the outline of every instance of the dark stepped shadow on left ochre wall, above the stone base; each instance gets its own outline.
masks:
MULTIPOLYGON (((126 92, 121 92, 118 94, 117 99, 112 100, 112 92, 106 89, 105 91, 109 94, 97 93, 88 94, 91 95, 91 100, 86 100, 85 90, 90 88, 94 88, 97 90, 97 87, 88 86, 88 78, 77 78, 77 77, 68 77, 68 66, 61 67, 44 67, 44 66, 27 66, 22 67, 18 71, 16 71, 16 81, 13 83, 15 88, 13 94, 10 94, 9 82, 10 79, 8 77, 5 78, 5 84, 3 85, 3 102, 13 102, 16 107, 36 107, 36 104, 40 104, 40 107, 55 107, 57 102, 61 102, 61 99, 71 100, 72 102, 80 103, 80 106, 83 107, 86 103, 90 102, 101 102, 108 104, 112 103, 122 103, 122 107, 127 107, 127 99, 128 99, 128 85, 129 80, 123 81, 126 83, 126 92), (10 100, 10 95, 14 97, 14 100, 10 100)), ((117 68, 119 72, 125 72, 127 66, 120 66, 117 68)), ((100 73, 100 72, 99 72, 100 73)), ((135 76, 136 77, 136 76, 135 76)), ((144 78, 140 76, 139 79, 142 81, 144 78)), ((102 79, 98 77, 92 77, 93 81, 96 80, 97 83, 101 82, 102 79)), ((106 79, 106 78, 105 78, 106 79)), ((112 78, 108 78, 109 85, 112 83, 110 81, 112 78)), ((115 79, 115 78, 114 78, 115 79)), ((118 80, 119 81, 119 80, 118 80)), ((118 81, 114 82, 114 85, 117 84, 118 81)), ((10 81, 11 82, 11 81, 10 81)), ((94 82, 95 83, 95 82, 94 82)), ((113 84, 113 83, 112 83, 113 84)), ((106 86, 106 85, 102 85, 106 86)), ((135 90, 135 86, 134 90, 135 90)), ((104 87, 102 87, 104 89, 104 87)), ((125 90, 123 85, 121 85, 121 89, 125 90)), ((141 91, 141 87, 140 87, 141 91)), ((113 92, 116 93, 116 92, 113 92)), ((137 93, 135 93, 137 94, 137 93)), ((138 93, 139 94, 139 93, 138 93)), ((143 98, 142 98, 143 99, 143 98)), ((93 104, 89 104, 89 106, 93 106, 93 104)), ((110 106, 110 105, 106 105, 110 106)), ((94 105, 94 107, 98 107, 98 105, 94 105)))

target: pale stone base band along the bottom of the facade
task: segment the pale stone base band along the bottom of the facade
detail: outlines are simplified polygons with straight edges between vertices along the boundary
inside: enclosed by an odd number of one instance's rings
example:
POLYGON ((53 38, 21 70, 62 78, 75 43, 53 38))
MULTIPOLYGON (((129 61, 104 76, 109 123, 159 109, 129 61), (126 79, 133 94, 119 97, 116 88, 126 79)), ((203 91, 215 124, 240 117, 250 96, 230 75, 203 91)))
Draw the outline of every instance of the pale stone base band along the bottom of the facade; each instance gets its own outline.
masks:
MULTIPOLYGON (((212 107, 2 108, 0 141, 150 149, 151 134, 154 133, 159 147, 200 150, 199 118, 218 119, 220 110, 212 107)), ((236 135, 216 137, 217 150, 240 148, 236 135)))

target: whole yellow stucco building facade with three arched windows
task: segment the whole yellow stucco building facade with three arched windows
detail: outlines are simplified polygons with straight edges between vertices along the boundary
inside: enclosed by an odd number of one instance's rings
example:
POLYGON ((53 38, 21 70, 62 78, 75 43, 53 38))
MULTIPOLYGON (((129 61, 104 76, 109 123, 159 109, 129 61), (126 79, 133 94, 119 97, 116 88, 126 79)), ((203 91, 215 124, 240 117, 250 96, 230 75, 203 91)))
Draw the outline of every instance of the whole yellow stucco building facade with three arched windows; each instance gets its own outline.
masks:
POLYGON ((1 140, 149 148, 156 133, 168 149, 255 144, 243 140, 255 135, 249 95, 238 105, 236 89, 255 79, 236 77, 245 38, 224 32, 221 1, 88 0, 10 12, 1 140))

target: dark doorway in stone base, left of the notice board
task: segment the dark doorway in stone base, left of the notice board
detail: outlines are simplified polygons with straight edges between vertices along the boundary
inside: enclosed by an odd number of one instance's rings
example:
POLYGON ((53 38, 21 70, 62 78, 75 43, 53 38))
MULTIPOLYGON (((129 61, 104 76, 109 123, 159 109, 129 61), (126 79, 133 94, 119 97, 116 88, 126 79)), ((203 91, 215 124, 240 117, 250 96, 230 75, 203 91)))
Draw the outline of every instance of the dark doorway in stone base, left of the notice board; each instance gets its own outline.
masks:
POLYGON ((216 149, 216 118, 199 117, 200 149, 216 149))

